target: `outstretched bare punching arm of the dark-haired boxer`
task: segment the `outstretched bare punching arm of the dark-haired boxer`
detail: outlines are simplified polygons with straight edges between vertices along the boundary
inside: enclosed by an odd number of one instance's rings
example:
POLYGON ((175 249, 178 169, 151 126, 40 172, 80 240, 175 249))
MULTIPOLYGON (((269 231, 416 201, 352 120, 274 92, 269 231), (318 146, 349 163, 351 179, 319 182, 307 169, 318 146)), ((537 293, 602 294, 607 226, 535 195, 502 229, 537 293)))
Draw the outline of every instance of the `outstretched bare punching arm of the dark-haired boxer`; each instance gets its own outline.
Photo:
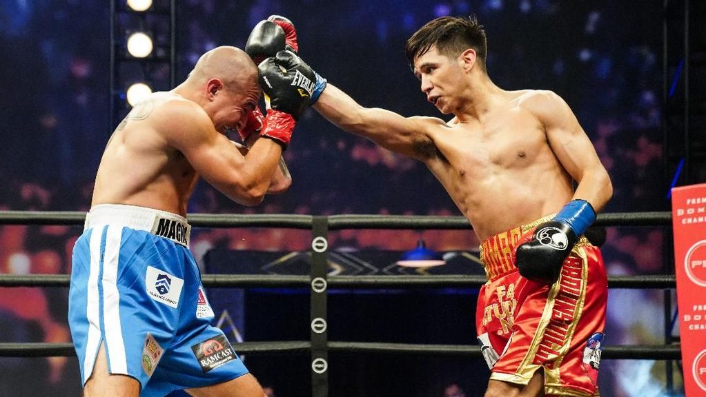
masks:
POLYGON ((433 143, 433 129, 445 126, 441 118, 406 118, 393 111, 363 107, 330 83, 312 106, 338 128, 420 161, 426 159, 428 151, 418 148, 433 143))

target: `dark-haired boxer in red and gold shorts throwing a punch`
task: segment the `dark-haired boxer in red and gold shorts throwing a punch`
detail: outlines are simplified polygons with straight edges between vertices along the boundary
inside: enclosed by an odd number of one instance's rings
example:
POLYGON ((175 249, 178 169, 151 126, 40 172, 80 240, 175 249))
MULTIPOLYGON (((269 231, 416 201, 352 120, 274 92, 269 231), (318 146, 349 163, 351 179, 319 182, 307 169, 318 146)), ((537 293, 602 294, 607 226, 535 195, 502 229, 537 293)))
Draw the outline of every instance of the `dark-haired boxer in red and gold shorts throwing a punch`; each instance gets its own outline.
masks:
MULTIPOLYGON (((289 20, 273 22, 296 37, 289 20)), ((606 276, 582 235, 613 190, 593 145, 554 92, 493 83, 476 18, 431 20, 405 50, 427 101, 453 118, 361 106, 316 73, 309 104, 343 130, 423 162, 486 241, 479 335, 493 371, 485 397, 597 394, 606 276)), ((292 63, 309 68, 280 51, 260 73, 292 63)), ((363 84, 374 89, 374 80, 363 84)))

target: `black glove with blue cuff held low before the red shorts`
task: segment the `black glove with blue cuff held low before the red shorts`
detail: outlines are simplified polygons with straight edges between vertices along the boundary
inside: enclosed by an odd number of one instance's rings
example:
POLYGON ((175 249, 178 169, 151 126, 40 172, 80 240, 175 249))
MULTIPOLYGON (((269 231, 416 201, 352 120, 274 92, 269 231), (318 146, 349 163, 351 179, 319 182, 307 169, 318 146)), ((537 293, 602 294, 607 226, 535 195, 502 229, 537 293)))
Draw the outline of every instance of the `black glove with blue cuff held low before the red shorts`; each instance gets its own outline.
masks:
POLYGON ((517 246, 515 263, 520 275, 539 283, 556 283, 564 259, 595 220, 596 212, 589 202, 566 204, 551 221, 534 229, 530 241, 517 246))

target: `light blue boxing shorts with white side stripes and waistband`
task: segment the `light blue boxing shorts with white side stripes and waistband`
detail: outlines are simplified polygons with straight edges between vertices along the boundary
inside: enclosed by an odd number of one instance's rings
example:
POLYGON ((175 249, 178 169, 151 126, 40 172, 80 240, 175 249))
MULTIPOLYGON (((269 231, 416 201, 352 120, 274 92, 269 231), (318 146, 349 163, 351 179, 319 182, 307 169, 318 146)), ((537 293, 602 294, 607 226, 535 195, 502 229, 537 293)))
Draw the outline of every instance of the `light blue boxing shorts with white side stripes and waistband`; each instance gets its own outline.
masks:
POLYGON ((246 374, 223 332, 189 251, 181 216, 101 204, 73 248, 68 324, 83 384, 98 349, 108 370, 137 379, 140 396, 218 384, 246 374))

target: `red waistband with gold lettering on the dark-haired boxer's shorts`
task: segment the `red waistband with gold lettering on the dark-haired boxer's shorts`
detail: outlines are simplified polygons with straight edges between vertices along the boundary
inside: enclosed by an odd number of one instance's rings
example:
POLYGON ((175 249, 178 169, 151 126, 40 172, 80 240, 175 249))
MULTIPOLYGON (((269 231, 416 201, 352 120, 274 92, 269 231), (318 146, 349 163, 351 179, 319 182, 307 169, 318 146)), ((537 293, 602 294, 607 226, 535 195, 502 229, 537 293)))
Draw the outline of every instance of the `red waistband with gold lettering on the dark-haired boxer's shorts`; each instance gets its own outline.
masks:
MULTIPOLYGON (((529 224, 511 228, 485 240, 481 244, 481 262, 483 262, 488 279, 493 281, 517 269, 514 252, 517 249, 517 243, 520 238, 532 232, 539 224, 549 221, 552 217, 554 217, 554 214, 543 216, 529 224)), ((578 244, 590 243, 585 237, 581 236, 578 244)))

